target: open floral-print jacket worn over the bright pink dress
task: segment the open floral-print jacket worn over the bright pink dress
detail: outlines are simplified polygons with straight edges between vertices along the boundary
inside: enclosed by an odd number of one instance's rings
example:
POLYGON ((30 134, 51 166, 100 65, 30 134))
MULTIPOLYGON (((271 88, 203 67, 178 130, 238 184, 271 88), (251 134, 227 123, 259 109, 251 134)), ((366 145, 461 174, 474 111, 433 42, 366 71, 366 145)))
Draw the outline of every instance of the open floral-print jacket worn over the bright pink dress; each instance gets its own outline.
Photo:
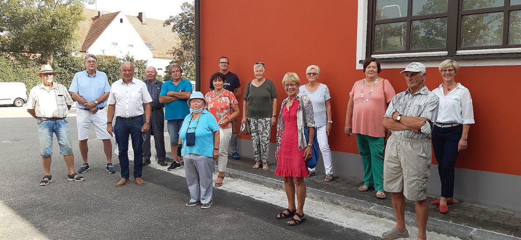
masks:
MULTIPOLYGON (((296 127, 297 134, 299 135, 299 151, 306 149, 307 141, 304 135, 304 128, 315 127, 315 120, 313 118, 313 103, 311 99, 302 92, 296 95, 296 99, 299 100, 299 106, 296 110, 296 127)), ((279 119, 277 120, 277 150, 280 149, 280 142, 282 141, 282 134, 284 133, 284 119, 282 119, 282 110, 284 105, 290 100, 286 98, 282 100, 280 108, 279 119)))

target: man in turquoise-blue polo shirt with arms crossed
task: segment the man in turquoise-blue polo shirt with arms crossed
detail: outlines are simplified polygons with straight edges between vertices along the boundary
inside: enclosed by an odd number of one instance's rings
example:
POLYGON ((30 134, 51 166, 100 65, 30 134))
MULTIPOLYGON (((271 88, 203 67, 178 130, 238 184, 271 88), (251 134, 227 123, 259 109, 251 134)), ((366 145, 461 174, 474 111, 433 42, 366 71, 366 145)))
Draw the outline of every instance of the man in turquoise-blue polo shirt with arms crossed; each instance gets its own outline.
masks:
POLYGON ((172 78, 163 83, 159 93, 159 102, 165 103, 165 120, 168 121, 167 128, 173 156, 173 163, 167 170, 173 170, 181 166, 177 156, 177 144, 179 141, 179 129, 183 124, 183 119, 190 113, 188 99, 190 94, 192 94, 192 83, 181 78, 183 70, 179 64, 171 64, 169 71, 172 78))

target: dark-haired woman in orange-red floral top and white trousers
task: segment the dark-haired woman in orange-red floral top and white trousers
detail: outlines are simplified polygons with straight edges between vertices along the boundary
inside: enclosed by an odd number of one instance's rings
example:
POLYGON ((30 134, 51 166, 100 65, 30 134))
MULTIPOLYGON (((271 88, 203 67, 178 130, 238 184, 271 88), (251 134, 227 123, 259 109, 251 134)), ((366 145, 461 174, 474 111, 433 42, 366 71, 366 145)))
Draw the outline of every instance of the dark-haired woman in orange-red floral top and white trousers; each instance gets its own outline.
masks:
POLYGON ((209 91, 204 96, 207 102, 206 108, 219 124, 219 160, 218 169, 219 175, 215 181, 215 186, 222 186, 222 181, 225 178, 226 165, 228 164, 228 145, 232 133, 232 121, 239 116, 239 102, 233 95, 233 92, 224 88, 225 75, 216 72, 210 77, 214 85, 214 90, 209 91))

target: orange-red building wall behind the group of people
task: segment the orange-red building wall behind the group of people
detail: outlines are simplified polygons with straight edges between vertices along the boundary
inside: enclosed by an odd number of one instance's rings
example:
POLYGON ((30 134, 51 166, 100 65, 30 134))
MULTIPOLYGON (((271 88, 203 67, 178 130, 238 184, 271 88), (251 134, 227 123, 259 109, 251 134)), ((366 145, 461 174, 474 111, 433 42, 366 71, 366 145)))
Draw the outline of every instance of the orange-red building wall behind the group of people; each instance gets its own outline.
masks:
MULTIPOLYGON (((253 64, 262 61, 266 77, 277 86, 278 112, 286 98, 281 84, 284 73, 296 72, 301 82, 307 83, 306 67, 316 64, 321 70, 319 82, 331 91, 331 150, 358 153, 356 138, 343 132, 349 91, 354 82, 364 78, 354 63, 356 11, 356 1, 201 1, 201 90, 209 90, 208 79, 219 70, 220 56, 230 58, 229 70, 241 79, 242 92, 254 78, 253 64)), ((401 70, 383 69, 380 73, 396 92, 406 89, 401 70)), ((520 75, 519 65, 460 69, 456 81, 472 94, 476 124, 470 127, 468 150, 461 153, 456 167, 521 175, 517 149, 521 148, 520 75)), ((428 68, 427 87, 433 89, 441 82, 438 69, 428 68)), ((242 101, 240 105, 242 111, 242 101)), ((275 130, 271 132, 271 142, 275 142, 275 130)))

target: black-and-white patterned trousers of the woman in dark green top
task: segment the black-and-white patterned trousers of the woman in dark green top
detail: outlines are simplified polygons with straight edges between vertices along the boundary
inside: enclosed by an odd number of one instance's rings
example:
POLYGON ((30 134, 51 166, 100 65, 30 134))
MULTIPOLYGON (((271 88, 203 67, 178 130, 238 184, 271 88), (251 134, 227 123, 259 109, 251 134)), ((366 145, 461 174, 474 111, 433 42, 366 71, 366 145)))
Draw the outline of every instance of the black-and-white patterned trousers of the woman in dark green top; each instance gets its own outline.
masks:
POLYGON ((268 162, 271 117, 251 117, 253 155, 257 162, 268 162))

